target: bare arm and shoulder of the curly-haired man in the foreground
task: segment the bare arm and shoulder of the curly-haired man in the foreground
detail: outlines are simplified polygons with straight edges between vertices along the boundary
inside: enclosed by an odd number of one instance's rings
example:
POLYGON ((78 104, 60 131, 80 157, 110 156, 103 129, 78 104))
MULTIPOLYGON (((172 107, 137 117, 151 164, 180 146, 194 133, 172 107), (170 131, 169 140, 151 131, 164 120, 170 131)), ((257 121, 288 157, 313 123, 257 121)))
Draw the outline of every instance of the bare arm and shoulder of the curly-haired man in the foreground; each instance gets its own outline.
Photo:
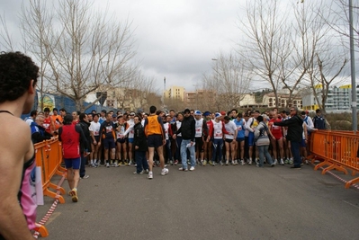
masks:
POLYGON ((22 167, 25 160, 30 160, 33 151, 29 125, 22 123, 15 122, 16 128, 3 125, 2 134, 6 138, 0 139, 0 233, 9 240, 34 239, 17 199, 22 167))

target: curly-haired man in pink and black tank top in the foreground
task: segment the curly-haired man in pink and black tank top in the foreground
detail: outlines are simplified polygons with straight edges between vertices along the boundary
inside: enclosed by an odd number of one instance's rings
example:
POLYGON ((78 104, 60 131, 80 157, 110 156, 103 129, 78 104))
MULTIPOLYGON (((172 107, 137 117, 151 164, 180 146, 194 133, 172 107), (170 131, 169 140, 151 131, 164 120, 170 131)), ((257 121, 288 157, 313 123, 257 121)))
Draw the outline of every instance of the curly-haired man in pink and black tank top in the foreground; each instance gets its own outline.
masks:
POLYGON ((31 111, 38 73, 22 53, 0 54, 0 239, 34 239, 34 148, 30 127, 20 117, 31 111))

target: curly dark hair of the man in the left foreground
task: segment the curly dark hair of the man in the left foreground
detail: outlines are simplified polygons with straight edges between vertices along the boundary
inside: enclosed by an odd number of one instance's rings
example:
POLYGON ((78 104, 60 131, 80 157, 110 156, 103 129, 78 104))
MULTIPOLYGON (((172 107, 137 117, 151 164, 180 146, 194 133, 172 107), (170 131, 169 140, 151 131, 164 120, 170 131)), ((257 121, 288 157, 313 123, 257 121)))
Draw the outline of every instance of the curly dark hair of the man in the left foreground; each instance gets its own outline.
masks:
POLYGON ((22 96, 39 77, 39 67, 21 52, 0 54, 0 102, 14 101, 22 96))

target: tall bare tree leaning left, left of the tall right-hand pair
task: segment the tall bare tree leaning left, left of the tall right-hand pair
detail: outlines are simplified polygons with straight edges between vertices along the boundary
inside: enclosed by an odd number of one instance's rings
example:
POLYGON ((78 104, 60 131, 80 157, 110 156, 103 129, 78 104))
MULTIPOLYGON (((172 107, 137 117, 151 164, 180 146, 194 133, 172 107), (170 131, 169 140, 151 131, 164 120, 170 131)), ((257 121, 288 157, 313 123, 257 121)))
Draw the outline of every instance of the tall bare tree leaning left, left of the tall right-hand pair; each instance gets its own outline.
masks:
POLYGON ((277 0, 247 0, 247 18, 240 19, 238 25, 247 37, 247 40, 238 43, 238 54, 247 59, 248 71, 271 85, 276 104, 281 80, 279 53, 288 49, 288 32, 284 29, 287 18, 278 7, 277 0))

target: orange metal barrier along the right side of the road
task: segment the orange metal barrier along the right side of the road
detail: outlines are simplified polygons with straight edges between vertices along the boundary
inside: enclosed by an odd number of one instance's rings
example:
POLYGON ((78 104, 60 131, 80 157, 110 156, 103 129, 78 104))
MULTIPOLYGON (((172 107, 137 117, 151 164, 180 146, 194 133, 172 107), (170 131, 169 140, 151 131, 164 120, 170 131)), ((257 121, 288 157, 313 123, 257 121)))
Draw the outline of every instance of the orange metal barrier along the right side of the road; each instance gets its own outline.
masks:
MULTIPOLYGON (((322 174, 329 170, 348 173, 347 169, 352 170, 352 176, 359 172, 359 158, 357 157, 359 147, 359 136, 353 131, 330 131, 318 130, 311 134, 311 163, 314 164, 316 159, 323 160, 316 164, 314 170, 327 166, 323 169, 322 174)), ((359 177, 346 182, 346 188, 355 182, 359 182, 359 177)))

